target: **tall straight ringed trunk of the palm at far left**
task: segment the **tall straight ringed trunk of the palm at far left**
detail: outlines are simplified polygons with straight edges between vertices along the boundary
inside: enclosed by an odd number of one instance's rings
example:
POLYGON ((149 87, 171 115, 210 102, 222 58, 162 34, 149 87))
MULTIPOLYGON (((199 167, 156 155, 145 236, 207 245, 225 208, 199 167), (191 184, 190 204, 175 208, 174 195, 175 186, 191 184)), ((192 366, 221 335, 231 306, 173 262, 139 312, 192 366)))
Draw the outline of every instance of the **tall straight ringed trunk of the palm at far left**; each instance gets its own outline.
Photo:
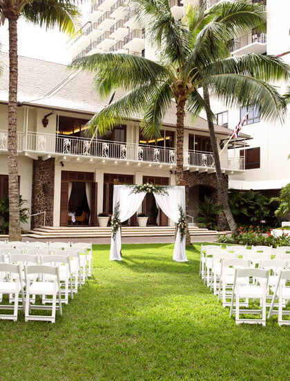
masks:
POLYGON ((9 100, 8 100, 8 181, 9 181, 9 240, 21 240, 19 219, 19 183, 17 163, 17 20, 11 15, 9 21, 9 100))

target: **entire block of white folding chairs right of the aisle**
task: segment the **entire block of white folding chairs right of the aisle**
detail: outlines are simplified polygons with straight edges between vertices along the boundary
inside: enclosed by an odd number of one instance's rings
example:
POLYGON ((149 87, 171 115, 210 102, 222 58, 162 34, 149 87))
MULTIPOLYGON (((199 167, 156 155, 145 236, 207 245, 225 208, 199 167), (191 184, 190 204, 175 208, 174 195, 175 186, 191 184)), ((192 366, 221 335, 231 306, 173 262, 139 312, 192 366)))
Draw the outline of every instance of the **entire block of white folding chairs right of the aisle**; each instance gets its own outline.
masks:
POLYGON ((290 301, 290 287, 287 285, 290 280, 290 254, 287 254, 288 249, 280 249, 259 253, 245 247, 222 249, 217 245, 202 246, 200 276, 218 295, 222 305, 231 307, 230 315, 235 313, 237 324, 266 325, 267 307, 270 308, 269 317, 278 314, 279 325, 290 324, 290 320, 282 319, 282 316, 290 314, 290 310, 283 309, 290 301), (260 308, 249 309, 249 299, 259 299, 260 308), (260 314, 261 317, 245 319, 241 314, 260 314))

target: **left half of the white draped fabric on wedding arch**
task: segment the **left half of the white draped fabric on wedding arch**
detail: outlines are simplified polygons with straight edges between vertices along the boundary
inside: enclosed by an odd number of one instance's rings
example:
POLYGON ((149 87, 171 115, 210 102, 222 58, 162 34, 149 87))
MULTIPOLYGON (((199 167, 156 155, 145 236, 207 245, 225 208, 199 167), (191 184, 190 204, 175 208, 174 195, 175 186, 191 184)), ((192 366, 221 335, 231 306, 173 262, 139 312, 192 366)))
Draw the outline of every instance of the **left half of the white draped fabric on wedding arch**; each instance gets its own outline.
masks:
MULTIPOLYGON (((114 185, 113 209, 119 202, 121 222, 131 218, 142 204, 146 193, 131 193, 132 188, 126 185, 114 185)), ((122 260, 121 258, 121 231, 117 230, 115 240, 110 239, 110 260, 122 260)))

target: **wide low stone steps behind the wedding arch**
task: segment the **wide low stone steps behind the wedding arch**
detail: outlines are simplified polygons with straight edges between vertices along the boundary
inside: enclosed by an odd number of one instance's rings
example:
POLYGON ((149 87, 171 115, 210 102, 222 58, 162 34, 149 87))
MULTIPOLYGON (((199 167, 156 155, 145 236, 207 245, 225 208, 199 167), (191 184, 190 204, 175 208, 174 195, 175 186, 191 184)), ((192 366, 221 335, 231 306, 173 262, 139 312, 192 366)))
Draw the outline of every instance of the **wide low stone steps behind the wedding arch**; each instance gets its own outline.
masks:
MULTIPOLYGON (((215 236, 218 231, 189 227, 191 236, 215 236)), ((122 227, 122 237, 174 236, 175 227, 122 227)), ((28 232, 28 237, 48 238, 108 238, 110 227, 39 227, 28 232)))

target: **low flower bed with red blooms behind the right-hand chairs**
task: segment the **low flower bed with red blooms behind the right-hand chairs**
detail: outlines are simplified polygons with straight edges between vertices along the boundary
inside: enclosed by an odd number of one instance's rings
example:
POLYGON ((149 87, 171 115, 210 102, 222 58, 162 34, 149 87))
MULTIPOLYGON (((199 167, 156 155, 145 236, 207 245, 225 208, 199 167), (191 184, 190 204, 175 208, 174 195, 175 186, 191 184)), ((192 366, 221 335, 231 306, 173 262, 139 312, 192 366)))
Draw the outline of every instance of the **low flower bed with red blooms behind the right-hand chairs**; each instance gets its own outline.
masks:
POLYGON ((259 226, 254 228, 250 225, 250 230, 245 230, 243 227, 240 227, 238 236, 232 234, 231 236, 226 236, 222 234, 218 238, 218 242, 222 243, 233 243, 237 245, 247 245, 247 246, 290 246, 290 236, 287 233, 283 233, 280 237, 274 237, 271 235, 271 230, 267 231, 267 236, 262 234, 259 226))

